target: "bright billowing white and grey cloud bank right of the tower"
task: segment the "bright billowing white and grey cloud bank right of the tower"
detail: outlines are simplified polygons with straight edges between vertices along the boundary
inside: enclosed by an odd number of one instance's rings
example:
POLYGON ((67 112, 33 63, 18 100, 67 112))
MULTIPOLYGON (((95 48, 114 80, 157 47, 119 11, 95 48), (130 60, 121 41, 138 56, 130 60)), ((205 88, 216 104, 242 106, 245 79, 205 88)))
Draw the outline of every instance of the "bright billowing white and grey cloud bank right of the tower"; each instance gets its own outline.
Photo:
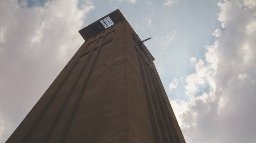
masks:
POLYGON ((218 5, 224 30, 214 31, 218 39, 186 78, 190 100, 171 102, 187 143, 256 143, 255 2, 218 5), (203 85, 210 90, 201 92, 203 85))

